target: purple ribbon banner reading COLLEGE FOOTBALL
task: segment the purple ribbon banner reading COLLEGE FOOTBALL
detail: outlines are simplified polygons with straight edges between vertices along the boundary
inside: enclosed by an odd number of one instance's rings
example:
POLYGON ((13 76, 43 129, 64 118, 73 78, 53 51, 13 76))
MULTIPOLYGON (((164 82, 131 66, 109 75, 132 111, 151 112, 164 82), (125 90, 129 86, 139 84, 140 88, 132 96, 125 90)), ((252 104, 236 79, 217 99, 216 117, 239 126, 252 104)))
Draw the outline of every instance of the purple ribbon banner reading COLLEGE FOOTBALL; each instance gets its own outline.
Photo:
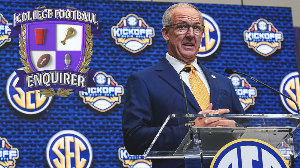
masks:
POLYGON ((97 13, 72 8, 42 8, 17 12, 13 14, 12 25, 8 26, 11 30, 9 38, 20 34, 22 24, 42 21, 75 21, 90 24, 93 35, 103 38, 100 32, 103 26, 99 25, 97 13))

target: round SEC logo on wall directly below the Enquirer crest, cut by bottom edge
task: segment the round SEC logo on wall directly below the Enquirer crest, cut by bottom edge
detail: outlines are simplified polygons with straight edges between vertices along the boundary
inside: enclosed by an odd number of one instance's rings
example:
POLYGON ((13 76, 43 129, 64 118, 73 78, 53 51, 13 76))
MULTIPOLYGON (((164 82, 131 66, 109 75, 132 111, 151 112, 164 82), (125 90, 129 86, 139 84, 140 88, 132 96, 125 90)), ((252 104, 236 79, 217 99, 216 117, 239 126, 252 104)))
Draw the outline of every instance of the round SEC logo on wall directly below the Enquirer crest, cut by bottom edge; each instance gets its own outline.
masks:
POLYGON ((51 168, 89 168, 93 160, 92 146, 83 134, 63 130, 49 140, 46 158, 51 168))

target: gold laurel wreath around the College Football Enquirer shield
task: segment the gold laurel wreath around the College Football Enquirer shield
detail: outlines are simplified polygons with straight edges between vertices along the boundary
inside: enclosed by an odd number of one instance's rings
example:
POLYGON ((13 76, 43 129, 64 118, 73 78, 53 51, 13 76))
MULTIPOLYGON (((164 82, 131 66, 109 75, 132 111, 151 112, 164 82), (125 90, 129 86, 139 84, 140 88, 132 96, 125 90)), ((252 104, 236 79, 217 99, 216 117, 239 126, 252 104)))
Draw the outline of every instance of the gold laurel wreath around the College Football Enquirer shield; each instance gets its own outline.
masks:
MULTIPOLYGON (((42 7, 37 7, 36 9, 42 9, 42 8, 46 8, 45 6, 42 7)), ((74 7, 69 7, 67 6, 67 8, 72 8, 72 9, 76 9, 74 7)), ((25 32, 26 32, 26 26, 25 24, 21 25, 21 35, 19 34, 19 46, 20 46, 20 50, 19 53, 21 55, 21 61, 23 63, 23 65, 26 68, 23 68, 23 70, 26 73, 31 73, 33 72, 32 68, 29 66, 28 60, 27 60, 27 54, 26 54, 26 47, 25 47, 25 32)), ((78 69, 78 72, 80 73, 87 73, 88 70, 90 68, 86 68, 88 66, 88 64, 91 62, 91 56, 93 54, 93 34, 91 31, 91 25, 90 24, 85 24, 85 51, 84 51, 84 58, 83 58, 83 62, 80 66, 80 68, 78 69)), ((45 95, 45 97, 51 97, 51 96, 60 96, 60 97, 68 97, 67 95, 70 95, 74 92, 72 92, 73 89, 62 89, 59 88, 57 92, 54 91, 53 88, 51 89, 41 89, 39 90, 39 93, 42 95, 45 95)))

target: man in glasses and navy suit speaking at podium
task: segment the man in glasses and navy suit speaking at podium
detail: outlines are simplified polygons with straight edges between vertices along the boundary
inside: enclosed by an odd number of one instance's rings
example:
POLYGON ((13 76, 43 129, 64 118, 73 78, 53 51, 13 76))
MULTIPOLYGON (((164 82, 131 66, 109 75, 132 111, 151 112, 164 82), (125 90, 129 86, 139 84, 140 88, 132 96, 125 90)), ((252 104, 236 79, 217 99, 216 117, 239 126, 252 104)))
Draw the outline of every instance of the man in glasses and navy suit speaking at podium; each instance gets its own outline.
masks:
MULTIPOLYGON (((129 154, 144 154, 169 114, 186 113, 179 79, 179 72, 186 66, 192 68, 182 73, 190 113, 245 113, 230 79, 197 61, 203 30, 201 13, 191 4, 175 4, 164 13, 161 31, 168 53, 152 67, 131 74, 126 86, 122 129, 129 154)), ((197 127, 234 127, 242 121, 236 124, 234 120, 213 117, 196 118, 194 122, 197 127)), ((168 124, 159 137, 164 142, 156 145, 176 149, 183 140, 178 132, 185 135, 188 129, 177 120, 168 124)), ((152 164, 153 168, 184 166, 183 160, 152 160, 152 164)))

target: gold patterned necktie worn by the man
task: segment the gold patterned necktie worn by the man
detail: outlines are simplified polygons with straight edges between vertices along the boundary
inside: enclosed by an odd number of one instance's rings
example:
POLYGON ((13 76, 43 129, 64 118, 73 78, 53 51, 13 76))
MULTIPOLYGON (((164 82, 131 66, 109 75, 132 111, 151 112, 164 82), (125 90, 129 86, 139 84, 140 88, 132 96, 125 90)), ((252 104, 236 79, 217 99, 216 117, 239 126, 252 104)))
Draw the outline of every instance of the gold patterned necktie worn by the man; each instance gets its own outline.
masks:
MULTIPOLYGON (((192 65, 186 65, 185 67, 191 67, 192 70, 189 72, 190 76, 188 77, 188 80, 190 82, 193 94, 200 105, 201 109, 207 108, 210 102, 210 96, 208 94, 208 91, 203 83, 203 81, 200 79, 197 72, 194 70, 195 67, 192 65)), ((183 69, 184 69, 183 68, 183 69)))

